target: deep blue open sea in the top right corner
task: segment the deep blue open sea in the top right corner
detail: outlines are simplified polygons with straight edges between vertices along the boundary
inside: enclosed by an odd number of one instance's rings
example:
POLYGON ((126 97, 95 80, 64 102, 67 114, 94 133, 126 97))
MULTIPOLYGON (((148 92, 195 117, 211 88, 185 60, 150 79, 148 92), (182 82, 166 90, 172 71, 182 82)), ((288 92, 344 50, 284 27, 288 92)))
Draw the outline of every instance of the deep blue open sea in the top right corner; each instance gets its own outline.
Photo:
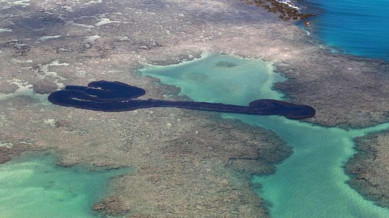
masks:
POLYGON ((345 53, 389 60, 389 0, 302 2, 319 9, 311 30, 327 45, 345 53))

